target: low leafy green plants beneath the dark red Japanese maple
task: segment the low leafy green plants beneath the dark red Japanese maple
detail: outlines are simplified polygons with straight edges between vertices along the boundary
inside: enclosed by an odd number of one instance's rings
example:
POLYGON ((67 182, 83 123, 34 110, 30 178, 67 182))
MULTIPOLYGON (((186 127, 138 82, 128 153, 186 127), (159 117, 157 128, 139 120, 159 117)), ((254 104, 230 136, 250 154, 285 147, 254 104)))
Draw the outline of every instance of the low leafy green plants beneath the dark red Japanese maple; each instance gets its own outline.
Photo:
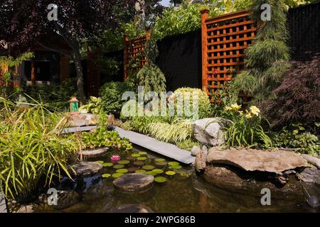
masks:
MULTIPOLYGON (((316 123, 319 128, 320 123, 316 123)), ((279 133, 274 133, 274 145, 281 148, 298 148, 299 153, 309 155, 320 155, 320 138, 314 135, 302 125, 302 123, 292 124, 282 128, 279 133)))

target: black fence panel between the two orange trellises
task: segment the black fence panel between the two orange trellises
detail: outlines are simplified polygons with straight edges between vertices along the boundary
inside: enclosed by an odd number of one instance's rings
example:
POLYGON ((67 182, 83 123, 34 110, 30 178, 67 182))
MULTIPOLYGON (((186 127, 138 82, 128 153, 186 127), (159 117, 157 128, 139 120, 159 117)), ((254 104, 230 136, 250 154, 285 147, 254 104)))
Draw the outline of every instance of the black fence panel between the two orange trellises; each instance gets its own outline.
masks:
POLYGON ((157 65, 166 76, 168 91, 201 88, 201 30, 166 37, 157 42, 157 65))

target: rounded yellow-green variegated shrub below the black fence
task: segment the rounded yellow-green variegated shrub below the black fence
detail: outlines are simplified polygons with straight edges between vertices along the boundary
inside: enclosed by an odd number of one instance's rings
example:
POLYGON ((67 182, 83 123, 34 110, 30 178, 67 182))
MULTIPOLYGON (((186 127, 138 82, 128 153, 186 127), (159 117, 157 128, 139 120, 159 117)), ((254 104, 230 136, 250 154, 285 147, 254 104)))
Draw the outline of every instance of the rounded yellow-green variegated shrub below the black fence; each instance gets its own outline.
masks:
POLYGON ((201 89, 196 88, 189 88, 189 87, 182 87, 179 89, 176 89, 174 91, 173 96, 170 97, 170 99, 174 99, 176 101, 176 113, 177 110, 181 109, 182 111, 182 118, 193 118, 193 116, 190 116, 191 113, 187 113, 184 109, 184 106, 179 106, 177 99, 179 96, 183 97, 183 103, 186 100, 188 94, 188 98, 190 99, 190 110, 193 110, 193 95, 196 94, 198 97, 198 118, 206 118, 210 114, 210 99, 208 94, 206 92, 201 91, 201 89), (187 93, 188 92, 188 93, 187 93))

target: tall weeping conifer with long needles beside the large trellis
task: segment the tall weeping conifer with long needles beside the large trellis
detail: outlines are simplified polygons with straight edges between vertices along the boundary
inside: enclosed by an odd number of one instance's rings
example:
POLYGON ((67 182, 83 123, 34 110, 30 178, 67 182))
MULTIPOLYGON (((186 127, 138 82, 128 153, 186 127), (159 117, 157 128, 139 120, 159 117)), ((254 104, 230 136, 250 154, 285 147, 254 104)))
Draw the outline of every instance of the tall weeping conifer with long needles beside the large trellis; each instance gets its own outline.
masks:
POLYGON ((232 87, 235 97, 242 91, 254 96, 255 102, 265 100, 282 81, 284 70, 289 67, 286 9, 284 0, 253 1, 252 18, 260 23, 260 29, 254 43, 246 50, 246 69, 234 79, 232 87), (262 4, 271 6, 270 21, 260 18, 262 4))

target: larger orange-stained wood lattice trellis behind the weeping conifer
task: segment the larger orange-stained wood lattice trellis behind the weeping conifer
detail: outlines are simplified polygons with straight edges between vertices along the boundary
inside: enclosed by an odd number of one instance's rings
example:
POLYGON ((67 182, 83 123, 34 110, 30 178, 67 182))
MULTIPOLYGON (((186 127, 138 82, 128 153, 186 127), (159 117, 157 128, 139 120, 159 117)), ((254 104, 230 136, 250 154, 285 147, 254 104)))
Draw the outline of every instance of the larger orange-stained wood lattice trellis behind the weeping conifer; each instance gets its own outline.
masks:
MULTIPOLYGON (((202 88, 216 97, 244 69, 245 49, 255 38, 257 26, 246 10, 214 18, 208 18, 208 13, 208 9, 201 11, 202 88)), ((247 96, 240 96, 246 103, 247 96)))

